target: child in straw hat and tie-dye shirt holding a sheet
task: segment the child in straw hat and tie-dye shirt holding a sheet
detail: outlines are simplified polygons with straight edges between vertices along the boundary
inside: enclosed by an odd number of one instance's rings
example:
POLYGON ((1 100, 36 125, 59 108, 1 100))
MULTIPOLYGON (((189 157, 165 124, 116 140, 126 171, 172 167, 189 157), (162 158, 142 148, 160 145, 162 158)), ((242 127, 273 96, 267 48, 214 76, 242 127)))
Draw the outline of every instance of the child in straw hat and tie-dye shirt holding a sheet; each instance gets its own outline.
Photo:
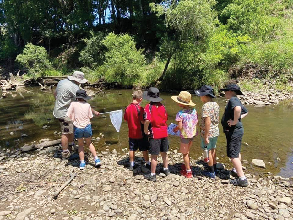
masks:
POLYGON ((178 126, 174 128, 174 132, 180 130, 180 152, 183 154, 184 165, 181 167, 181 175, 191 178, 191 167, 189 151, 192 146, 192 140, 196 135, 196 127, 198 125, 198 114, 195 106, 191 101, 191 94, 187 91, 181 91, 179 96, 172 96, 175 102, 178 103, 182 109, 177 113, 175 120, 178 122, 178 126))

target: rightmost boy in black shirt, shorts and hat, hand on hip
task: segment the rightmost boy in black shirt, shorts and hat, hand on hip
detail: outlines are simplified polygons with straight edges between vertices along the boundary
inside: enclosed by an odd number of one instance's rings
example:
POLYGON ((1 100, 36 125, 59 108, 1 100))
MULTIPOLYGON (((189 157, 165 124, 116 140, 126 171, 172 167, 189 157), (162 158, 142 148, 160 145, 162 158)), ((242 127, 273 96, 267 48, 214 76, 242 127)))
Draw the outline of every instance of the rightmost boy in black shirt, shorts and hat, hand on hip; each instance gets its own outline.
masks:
POLYGON ((230 99, 222 118, 222 126, 227 139, 227 156, 234 166, 230 174, 235 179, 230 179, 230 183, 236 186, 248 186, 247 178, 242 170, 240 154, 241 141, 244 135, 241 119, 248 114, 247 109, 237 98, 237 95, 243 95, 243 93, 236 84, 230 84, 221 91, 225 91, 225 97, 230 99))

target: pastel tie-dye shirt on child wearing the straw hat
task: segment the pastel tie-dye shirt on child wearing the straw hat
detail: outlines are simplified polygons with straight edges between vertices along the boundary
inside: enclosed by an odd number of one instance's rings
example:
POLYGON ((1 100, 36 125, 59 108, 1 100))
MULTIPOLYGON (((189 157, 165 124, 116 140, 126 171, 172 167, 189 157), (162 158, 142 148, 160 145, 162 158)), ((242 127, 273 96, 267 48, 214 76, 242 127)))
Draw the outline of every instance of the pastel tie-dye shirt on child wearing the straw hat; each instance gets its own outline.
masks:
POLYGON ((183 108, 177 113, 175 120, 182 121, 181 138, 193 138, 196 135, 198 114, 195 108, 183 108))

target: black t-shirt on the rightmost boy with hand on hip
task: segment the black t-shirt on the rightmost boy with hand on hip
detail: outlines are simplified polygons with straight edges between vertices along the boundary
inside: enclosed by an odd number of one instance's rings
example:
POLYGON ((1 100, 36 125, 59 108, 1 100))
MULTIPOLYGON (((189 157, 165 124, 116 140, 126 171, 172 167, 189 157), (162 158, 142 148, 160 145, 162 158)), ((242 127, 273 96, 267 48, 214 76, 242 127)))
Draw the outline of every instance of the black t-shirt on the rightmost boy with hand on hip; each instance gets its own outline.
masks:
POLYGON ((232 97, 229 100, 228 104, 226 105, 225 112, 224 112, 224 115, 223 115, 222 121, 221 121, 224 132, 226 130, 229 130, 229 131, 234 131, 234 133, 236 133, 236 132, 237 133, 244 133, 243 125, 242 125, 242 122, 241 122, 241 115, 245 114, 247 112, 248 112, 247 109, 242 105, 240 100, 237 97, 232 97), (238 123, 236 125, 230 127, 228 125, 228 121, 230 119, 234 120, 234 108, 236 106, 241 107, 241 114, 240 114, 240 117, 238 119, 238 123))

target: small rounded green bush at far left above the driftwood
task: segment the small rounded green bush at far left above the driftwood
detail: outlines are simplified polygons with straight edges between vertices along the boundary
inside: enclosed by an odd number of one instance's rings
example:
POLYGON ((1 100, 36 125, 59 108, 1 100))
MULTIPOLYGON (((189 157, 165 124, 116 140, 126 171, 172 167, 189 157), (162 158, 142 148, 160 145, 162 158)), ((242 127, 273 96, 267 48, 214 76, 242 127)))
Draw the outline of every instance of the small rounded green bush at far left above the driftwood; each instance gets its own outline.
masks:
POLYGON ((22 54, 17 55, 16 61, 33 77, 41 76, 46 69, 51 68, 46 49, 32 43, 25 45, 22 54))

